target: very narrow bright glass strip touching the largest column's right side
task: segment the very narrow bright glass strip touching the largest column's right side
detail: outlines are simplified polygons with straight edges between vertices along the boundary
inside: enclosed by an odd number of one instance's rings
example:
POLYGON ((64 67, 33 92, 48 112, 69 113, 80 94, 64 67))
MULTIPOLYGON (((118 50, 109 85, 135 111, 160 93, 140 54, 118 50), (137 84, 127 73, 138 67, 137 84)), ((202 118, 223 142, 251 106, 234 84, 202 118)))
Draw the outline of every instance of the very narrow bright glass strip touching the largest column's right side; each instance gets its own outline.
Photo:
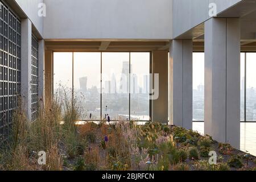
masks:
POLYGON ((240 118, 245 121, 245 53, 241 53, 240 118))

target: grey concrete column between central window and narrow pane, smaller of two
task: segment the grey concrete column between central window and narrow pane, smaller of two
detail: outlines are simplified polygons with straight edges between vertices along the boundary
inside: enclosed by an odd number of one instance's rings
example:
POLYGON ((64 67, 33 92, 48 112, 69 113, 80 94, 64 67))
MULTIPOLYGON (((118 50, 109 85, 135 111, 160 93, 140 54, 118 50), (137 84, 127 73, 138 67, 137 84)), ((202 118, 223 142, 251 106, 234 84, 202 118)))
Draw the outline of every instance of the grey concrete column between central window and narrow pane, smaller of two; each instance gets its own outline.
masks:
POLYGON ((172 40, 169 64, 169 118, 172 125, 192 129, 192 40, 172 40))

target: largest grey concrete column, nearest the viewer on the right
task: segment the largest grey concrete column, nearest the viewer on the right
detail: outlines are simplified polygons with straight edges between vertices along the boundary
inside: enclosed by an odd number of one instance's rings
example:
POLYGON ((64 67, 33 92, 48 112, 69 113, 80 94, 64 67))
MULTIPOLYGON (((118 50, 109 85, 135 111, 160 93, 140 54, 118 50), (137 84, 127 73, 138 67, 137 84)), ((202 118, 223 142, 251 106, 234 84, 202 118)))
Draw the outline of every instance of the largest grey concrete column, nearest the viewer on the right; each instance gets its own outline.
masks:
POLYGON ((240 148, 240 19, 205 22, 205 134, 240 148))

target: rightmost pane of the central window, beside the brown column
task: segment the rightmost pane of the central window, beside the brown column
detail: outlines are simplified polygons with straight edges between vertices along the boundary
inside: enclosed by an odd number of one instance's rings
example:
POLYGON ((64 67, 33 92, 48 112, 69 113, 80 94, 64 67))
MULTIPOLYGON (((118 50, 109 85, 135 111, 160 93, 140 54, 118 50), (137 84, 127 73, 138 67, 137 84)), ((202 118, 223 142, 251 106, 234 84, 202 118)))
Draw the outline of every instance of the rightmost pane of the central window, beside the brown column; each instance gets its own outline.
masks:
POLYGON ((131 52, 131 119, 149 121, 150 53, 131 52))

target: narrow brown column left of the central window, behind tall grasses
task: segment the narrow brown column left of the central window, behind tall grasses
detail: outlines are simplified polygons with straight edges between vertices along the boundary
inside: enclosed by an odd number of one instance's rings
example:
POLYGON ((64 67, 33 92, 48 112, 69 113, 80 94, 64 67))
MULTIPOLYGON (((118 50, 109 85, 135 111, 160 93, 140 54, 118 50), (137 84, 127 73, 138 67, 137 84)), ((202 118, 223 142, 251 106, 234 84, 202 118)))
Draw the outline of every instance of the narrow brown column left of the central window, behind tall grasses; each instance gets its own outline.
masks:
POLYGON ((45 100, 49 102, 52 100, 52 92, 53 92, 53 52, 46 50, 45 51, 45 100))

